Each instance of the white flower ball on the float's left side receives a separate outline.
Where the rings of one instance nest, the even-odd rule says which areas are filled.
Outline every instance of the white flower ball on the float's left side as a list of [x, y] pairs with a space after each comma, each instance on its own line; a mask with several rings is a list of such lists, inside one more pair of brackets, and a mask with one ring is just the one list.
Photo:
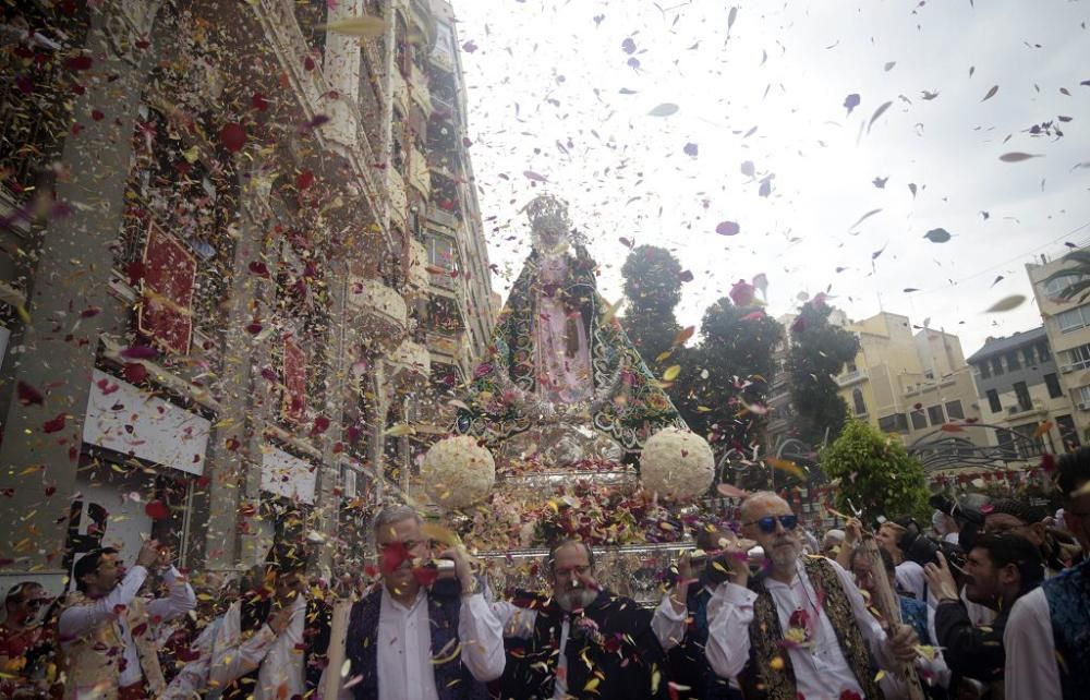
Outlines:
[[447, 510], [483, 500], [496, 483], [496, 461], [469, 435], [447, 437], [432, 445], [420, 475], [432, 502]]

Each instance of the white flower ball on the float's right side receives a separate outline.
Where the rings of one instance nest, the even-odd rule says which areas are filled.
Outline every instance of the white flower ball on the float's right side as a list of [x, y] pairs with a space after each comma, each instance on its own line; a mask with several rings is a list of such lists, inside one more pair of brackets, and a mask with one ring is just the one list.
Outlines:
[[700, 435], [665, 427], [647, 439], [640, 456], [640, 481], [659, 498], [691, 498], [715, 476], [715, 455]]

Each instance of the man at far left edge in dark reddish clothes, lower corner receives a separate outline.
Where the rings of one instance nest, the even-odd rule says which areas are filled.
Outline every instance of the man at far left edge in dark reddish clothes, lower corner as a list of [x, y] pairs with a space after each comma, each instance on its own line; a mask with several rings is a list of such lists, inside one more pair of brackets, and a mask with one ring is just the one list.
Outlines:
[[0, 625], [0, 698], [39, 698], [48, 693], [47, 666], [53, 655], [52, 629], [43, 613], [53, 599], [36, 581], [13, 586], [4, 596]]

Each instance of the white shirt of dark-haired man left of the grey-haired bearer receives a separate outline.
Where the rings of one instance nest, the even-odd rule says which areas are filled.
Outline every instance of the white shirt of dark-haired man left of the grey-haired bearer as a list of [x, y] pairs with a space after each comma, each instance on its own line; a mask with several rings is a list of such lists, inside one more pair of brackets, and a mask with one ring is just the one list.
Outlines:
[[[222, 690], [259, 667], [253, 700], [302, 696], [306, 692], [306, 675], [300, 648], [305, 627], [306, 599], [300, 595], [292, 605], [291, 619], [280, 635], [266, 624], [244, 640], [242, 603], [234, 603], [219, 628], [208, 673], [209, 686]], [[287, 695], [280, 695], [281, 687]]]

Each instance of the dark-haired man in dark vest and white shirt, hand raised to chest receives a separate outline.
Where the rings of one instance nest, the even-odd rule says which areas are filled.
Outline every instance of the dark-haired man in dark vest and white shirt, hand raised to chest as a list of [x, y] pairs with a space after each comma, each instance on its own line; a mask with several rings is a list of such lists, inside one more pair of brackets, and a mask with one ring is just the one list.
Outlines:
[[278, 543], [265, 580], [253, 581], [223, 615], [208, 686], [225, 700], [274, 700], [317, 690], [329, 645], [331, 610], [308, 600], [306, 550]]

